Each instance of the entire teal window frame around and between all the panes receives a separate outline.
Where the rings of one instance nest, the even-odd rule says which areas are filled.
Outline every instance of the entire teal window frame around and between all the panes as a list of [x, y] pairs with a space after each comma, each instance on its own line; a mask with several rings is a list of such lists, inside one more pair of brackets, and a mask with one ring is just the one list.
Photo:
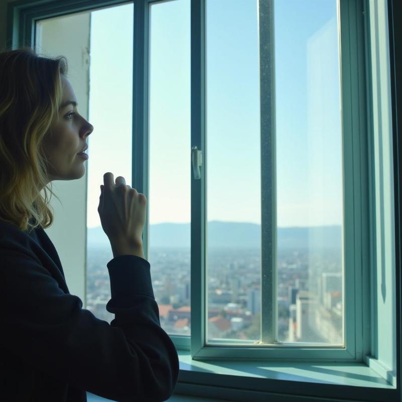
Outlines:
[[[244, 346], [206, 346], [205, 334], [205, 315], [206, 300], [205, 293], [205, 217], [206, 217], [206, 166], [208, 155], [205, 154], [206, 149], [206, 133], [205, 133], [205, 0], [191, 1], [191, 147], [196, 146], [198, 150], [203, 152], [203, 163], [200, 166], [200, 179], [194, 179], [192, 165], [189, 166], [191, 174], [191, 337], [171, 336], [179, 355], [191, 358], [194, 361], [206, 361], [216, 363], [221, 360], [232, 361], [237, 364], [244, 364], [246, 367], [250, 362], [256, 362], [258, 365], [269, 363], [272, 361], [289, 362], [295, 367], [299, 364], [312, 362], [336, 362], [341, 364], [363, 362], [364, 357], [369, 353], [373, 335], [363, 331], [363, 328], [369, 328], [371, 325], [372, 309], [370, 303], [363, 302], [370, 298], [370, 275], [372, 273], [372, 256], [370, 256], [373, 244], [372, 226], [373, 217], [371, 212], [371, 204], [373, 203], [373, 189], [371, 184], [371, 168], [368, 158], [370, 149], [370, 138], [363, 133], [367, 133], [370, 125], [370, 116], [368, 112], [368, 88], [370, 83], [368, 80], [369, 62], [366, 50], [368, 49], [368, 33], [367, 33], [367, 9], [368, 1], [366, 0], [339, 0], [339, 23], [341, 35], [341, 71], [342, 71], [342, 110], [343, 110], [343, 155], [344, 155], [344, 261], [345, 261], [345, 288], [344, 288], [344, 305], [345, 309], [345, 348], [307, 348], [295, 345], [294, 347], [273, 347], [261, 346], [250, 347], [249, 342], [243, 342]], [[13, 48], [21, 45], [34, 44], [35, 40], [35, 22], [44, 18], [51, 18], [72, 14], [82, 11], [93, 11], [103, 7], [134, 3], [134, 71], [133, 71], [133, 149], [132, 155], [136, 164], [133, 165], [132, 177], [136, 183], [136, 188], [144, 194], [148, 194], [148, 9], [152, 3], [158, 3], [160, 0], [134, 0], [132, 2], [119, 0], [23, 0], [10, 3], [8, 5], [8, 31], [7, 37], [12, 43]], [[267, 5], [268, 3], [265, 3]], [[388, 0], [389, 9], [392, 1]], [[260, 0], [260, 7], [264, 7], [264, 3]], [[266, 9], [269, 16], [269, 9]], [[390, 15], [390, 21], [392, 16]], [[392, 29], [394, 29], [392, 24]], [[265, 25], [266, 27], [266, 25]], [[264, 27], [260, 27], [264, 29]], [[261, 31], [262, 32], [262, 31]], [[260, 32], [260, 33], [261, 33]], [[269, 35], [266, 35], [268, 38]], [[395, 39], [396, 41], [396, 39]], [[267, 42], [266, 45], [270, 45]], [[268, 60], [269, 61], [269, 60]], [[272, 72], [271, 69], [268, 72]], [[395, 72], [396, 74], [396, 72]], [[400, 74], [399, 74], [400, 75]], [[399, 80], [400, 83], [400, 80]], [[268, 93], [272, 88], [272, 80], [270, 82], [261, 83], [261, 93]], [[270, 86], [271, 85], [271, 86]], [[400, 92], [399, 92], [400, 93]], [[400, 95], [399, 95], [400, 96]], [[396, 99], [396, 96], [395, 96]], [[261, 99], [263, 100], [263, 99]], [[396, 100], [395, 100], [396, 102]], [[400, 102], [399, 102], [400, 104]], [[265, 109], [264, 109], [265, 108]], [[272, 111], [272, 102], [267, 104], [261, 103], [261, 111], [265, 111], [265, 116], [269, 116]], [[394, 115], [397, 114], [394, 106]], [[400, 112], [399, 112], [400, 115]], [[263, 122], [263, 120], [261, 120]], [[400, 122], [400, 120], [399, 120]], [[400, 123], [399, 123], [400, 124]], [[269, 133], [269, 127], [273, 127], [273, 119], [265, 121], [264, 129]], [[396, 127], [396, 123], [394, 122]], [[396, 128], [393, 130], [394, 139], [394, 164], [395, 165], [395, 244], [396, 244], [396, 303], [397, 303], [397, 372], [395, 389], [370, 389], [370, 395], [366, 400], [383, 400], [396, 401], [400, 400], [401, 389], [401, 350], [400, 350], [400, 211], [397, 207], [400, 202], [400, 162], [398, 158], [398, 149], [400, 155], [400, 140], [397, 142]], [[263, 126], [261, 126], [263, 129]], [[272, 132], [272, 131], [271, 131]], [[399, 131], [400, 132], [400, 131]], [[266, 138], [266, 137], [265, 137]], [[271, 143], [262, 142], [265, 151], [272, 155], [274, 148], [274, 138], [270, 137]], [[189, 150], [190, 151], [190, 150]], [[263, 150], [261, 151], [263, 152]], [[271, 161], [274, 161], [274, 155]], [[271, 179], [274, 177], [274, 163], [271, 162], [270, 174]], [[399, 163], [399, 164], [398, 164]], [[269, 166], [267, 166], [269, 168]], [[399, 169], [399, 170], [398, 170]], [[268, 169], [269, 171], [269, 169]], [[265, 240], [271, 240], [275, 244], [275, 233], [270, 231], [269, 222], [274, 222], [274, 191], [266, 192], [266, 202], [264, 205], [266, 211], [270, 211], [263, 219], [262, 226], [266, 225], [267, 237]], [[147, 219], [148, 221], [148, 219]], [[148, 255], [148, 227], [144, 228], [144, 252]], [[348, 246], [353, 245], [353, 247]], [[263, 266], [269, 266], [269, 261], [275, 258], [274, 250], [263, 255]], [[365, 267], [370, 267], [366, 269]], [[275, 279], [275, 270], [267, 271], [269, 278], [265, 289], [271, 289], [265, 294], [271, 294], [270, 300], [265, 299], [264, 306], [270, 306], [269, 311], [271, 318], [263, 321], [263, 333], [266, 335], [263, 339], [272, 340], [272, 328], [274, 328], [274, 320], [272, 319], [275, 312], [276, 299], [274, 297], [274, 289], [272, 283]], [[264, 293], [264, 292], [262, 292]], [[375, 302], [374, 302], [375, 305]], [[269, 315], [267, 314], [267, 317]], [[265, 329], [264, 329], [265, 328]], [[271, 331], [271, 333], [269, 333]], [[230, 341], [228, 344], [232, 343]], [[236, 343], [240, 343], [237, 342]], [[267, 342], [269, 343], [269, 342]], [[184, 359], [184, 358], [183, 358]], [[180, 360], [181, 361], [181, 360]], [[216, 363], [217, 367], [219, 366]], [[363, 363], [362, 363], [363, 365]], [[184, 367], [184, 365], [183, 365]], [[313, 366], [309, 366], [313, 370]], [[316, 367], [318, 367], [316, 365]], [[204, 370], [205, 371], [205, 370]], [[225, 373], [223, 366], [221, 371], [203, 373], [194, 367], [188, 369], [180, 366], [179, 386], [183, 393], [188, 394], [204, 394], [215, 397], [225, 397], [231, 394], [231, 387], [236, 382], [236, 377], [226, 374], [224, 376], [216, 374]], [[205, 374], [205, 375], [204, 375]], [[202, 379], [200, 379], [202, 377]], [[225, 378], [224, 378], [225, 377]], [[328, 398], [342, 397], [345, 387], [350, 400], [359, 399], [359, 393], [364, 387], [348, 387], [347, 385], [328, 385], [315, 384], [312, 391], [311, 384], [304, 384], [303, 380], [297, 380], [294, 376], [290, 381], [297, 387], [296, 391], [286, 389], [289, 381], [283, 381], [280, 376], [275, 377], [275, 381], [265, 382], [262, 385], [262, 378], [249, 378], [244, 381], [241, 389], [244, 390], [244, 398], [255, 396], [254, 400], [259, 400], [258, 392], [261, 397], [266, 397], [272, 393], [278, 395], [285, 392], [283, 400], [299, 400], [296, 395], [315, 395], [327, 396]], [[258, 377], [258, 376], [256, 376]], [[288, 380], [288, 379], [287, 379]], [[233, 382], [231, 382], [233, 381]], [[301, 382], [300, 382], [301, 381]], [[313, 381], [314, 382], [314, 381]], [[286, 384], [285, 384], [286, 383]], [[309, 388], [310, 386], [310, 388]], [[197, 388], [198, 387], [198, 388]], [[200, 391], [199, 387], [203, 388]], [[212, 388], [213, 387], [213, 388]], [[217, 389], [221, 387], [222, 393]], [[342, 389], [341, 389], [342, 388]], [[355, 391], [352, 390], [355, 389]], [[197, 390], [198, 389], [198, 390]], [[226, 390], [225, 390], [226, 389]], [[237, 390], [232, 392], [233, 400], [239, 399], [239, 386]], [[366, 388], [364, 388], [366, 389]], [[257, 390], [259, 390], [257, 392]], [[218, 392], [218, 393], [217, 393]], [[254, 392], [254, 393], [253, 393]], [[256, 393], [257, 392], [257, 393]], [[293, 394], [293, 395], [291, 395]], [[237, 396], [236, 396], [237, 395]], [[263, 400], [263, 399], [261, 399]], [[330, 399], [328, 399], [330, 400]]]

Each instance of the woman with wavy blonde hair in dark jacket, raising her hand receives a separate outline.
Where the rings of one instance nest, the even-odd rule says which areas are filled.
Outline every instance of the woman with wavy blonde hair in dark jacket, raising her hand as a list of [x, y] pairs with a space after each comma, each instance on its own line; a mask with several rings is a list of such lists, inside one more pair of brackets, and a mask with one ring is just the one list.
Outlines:
[[78, 153], [93, 131], [66, 74], [62, 56], [0, 53], [0, 400], [80, 402], [86, 391], [166, 400], [179, 365], [144, 259], [146, 197], [105, 173], [98, 213], [114, 257], [107, 264], [110, 325], [69, 293], [43, 230], [53, 222], [48, 183], [83, 176]]

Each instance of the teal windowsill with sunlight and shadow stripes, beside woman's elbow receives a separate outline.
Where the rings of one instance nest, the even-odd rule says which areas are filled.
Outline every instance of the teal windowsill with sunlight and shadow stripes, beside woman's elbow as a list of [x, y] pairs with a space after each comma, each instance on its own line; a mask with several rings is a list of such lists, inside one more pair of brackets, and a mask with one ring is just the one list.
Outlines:
[[[176, 391], [179, 394], [191, 389], [193, 395], [208, 396], [203, 387], [215, 387], [222, 389], [223, 393], [214, 392], [210, 396], [222, 397], [225, 389], [232, 389], [250, 392], [250, 395], [252, 392], [275, 392], [331, 400], [345, 395], [345, 392], [351, 399], [357, 399], [364, 390], [369, 395], [367, 400], [395, 400], [396, 387], [365, 363], [197, 361], [191, 359], [188, 350], [177, 350], [177, 353], [180, 373]], [[368, 387], [371, 390], [367, 393]]]

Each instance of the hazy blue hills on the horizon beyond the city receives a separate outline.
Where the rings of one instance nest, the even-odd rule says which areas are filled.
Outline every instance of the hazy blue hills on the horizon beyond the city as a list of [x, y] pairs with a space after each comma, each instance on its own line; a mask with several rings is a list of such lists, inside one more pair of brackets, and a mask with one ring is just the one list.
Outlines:
[[[150, 225], [150, 247], [190, 247], [190, 224]], [[260, 225], [236, 222], [208, 222], [208, 247], [261, 246]], [[341, 248], [341, 226], [278, 228], [278, 248]], [[88, 229], [88, 246], [109, 246], [101, 226]]]

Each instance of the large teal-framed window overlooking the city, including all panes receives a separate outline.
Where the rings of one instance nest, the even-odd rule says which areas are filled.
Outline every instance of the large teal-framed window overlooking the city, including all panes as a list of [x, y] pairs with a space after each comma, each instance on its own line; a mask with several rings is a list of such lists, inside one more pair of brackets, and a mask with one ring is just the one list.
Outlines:
[[341, 397], [346, 387], [357, 399], [360, 386], [370, 388], [367, 400], [397, 400], [386, 3], [10, 10], [19, 16], [9, 22], [16, 46], [32, 41], [67, 56], [95, 128], [86, 181], [74, 183], [82, 197], [69, 198], [72, 183], [55, 185], [67, 211], [87, 194], [87, 245], [61, 256], [66, 267], [82, 260], [66, 277], [85, 308], [113, 319], [105, 310], [112, 253], [96, 213], [99, 180], [112, 171], [148, 198], [144, 249], [161, 325], [180, 354], [178, 391], [293, 400], [283, 384], [262, 381], [272, 378], [297, 382], [299, 395]]

